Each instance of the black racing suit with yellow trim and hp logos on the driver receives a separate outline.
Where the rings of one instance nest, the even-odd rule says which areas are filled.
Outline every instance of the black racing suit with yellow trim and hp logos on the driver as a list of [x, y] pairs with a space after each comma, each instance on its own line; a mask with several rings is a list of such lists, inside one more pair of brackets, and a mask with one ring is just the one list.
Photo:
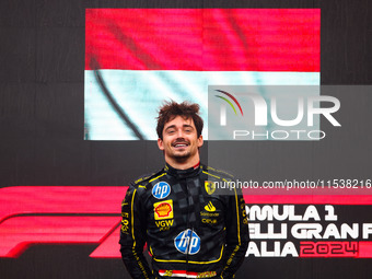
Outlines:
[[131, 277], [233, 278], [249, 236], [242, 195], [216, 190], [216, 182], [231, 179], [205, 165], [182, 171], [166, 164], [132, 183], [121, 205], [119, 241]]

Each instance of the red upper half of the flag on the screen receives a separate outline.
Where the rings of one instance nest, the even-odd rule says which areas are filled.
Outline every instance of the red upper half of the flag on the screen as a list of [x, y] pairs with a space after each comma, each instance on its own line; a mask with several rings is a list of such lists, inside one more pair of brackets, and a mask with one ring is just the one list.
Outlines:
[[319, 71], [319, 9], [88, 9], [85, 15], [86, 70]]

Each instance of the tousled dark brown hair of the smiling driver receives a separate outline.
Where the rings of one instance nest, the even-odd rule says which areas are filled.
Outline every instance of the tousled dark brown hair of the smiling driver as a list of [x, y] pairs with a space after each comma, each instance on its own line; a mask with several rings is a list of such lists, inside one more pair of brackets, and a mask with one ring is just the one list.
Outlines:
[[163, 129], [166, 123], [173, 120], [176, 116], [183, 116], [185, 119], [191, 118], [195, 124], [198, 138], [201, 135], [204, 121], [199, 116], [200, 106], [187, 101], [178, 104], [174, 101], [164, 102], [159, 108], [156, 132], [158, 137], [163, 140]]

